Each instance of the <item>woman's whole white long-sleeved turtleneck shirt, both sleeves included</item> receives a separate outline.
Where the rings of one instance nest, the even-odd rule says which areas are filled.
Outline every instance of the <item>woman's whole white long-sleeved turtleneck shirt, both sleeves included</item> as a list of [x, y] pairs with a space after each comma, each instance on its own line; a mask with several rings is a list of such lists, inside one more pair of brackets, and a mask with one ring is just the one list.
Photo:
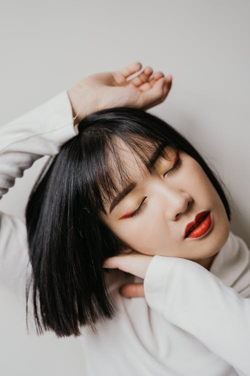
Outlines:
[[[0, 126], [0, 197], [23, 170], [55, 155], [77, 134], [66, 91]], [[0, 212], [0, 283], [25, 301], [25, 224]], [[105, 276], [118, 313], [82, 327], [88, 376], [250, 375], [250, 251], [230, 232], [208, 270], [154, 256], [144, 281], [118, 270]], [[144, 283], [144, 297], [122, 297], [124, 283]]]

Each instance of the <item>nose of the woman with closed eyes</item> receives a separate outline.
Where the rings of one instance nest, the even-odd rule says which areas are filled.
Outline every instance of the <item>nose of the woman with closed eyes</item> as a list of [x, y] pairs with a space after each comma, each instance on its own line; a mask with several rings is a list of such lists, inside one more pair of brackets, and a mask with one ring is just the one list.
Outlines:
[[176, 221], [181, 214], [186, 213], [193, 202], [191, 195], [187, 192], [168, 188], [164, 194], [165, 217], [170, 221]]

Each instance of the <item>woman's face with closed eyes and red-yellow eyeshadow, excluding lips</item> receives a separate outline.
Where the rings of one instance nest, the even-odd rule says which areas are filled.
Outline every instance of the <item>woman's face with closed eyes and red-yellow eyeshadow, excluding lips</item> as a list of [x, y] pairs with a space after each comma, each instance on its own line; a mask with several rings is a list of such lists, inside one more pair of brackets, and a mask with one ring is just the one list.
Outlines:
[[[222, 201], [202, 167], [185, 152], [167, 147], [170, 159], [160, 157], [150, 174], [122, 141], [118, 150], [136, 186], [116, 201], [110, 213], [111, 206], [105, 208], [108, 215], [101, 215], [103, 222], [137, 252], [181, 257], [206, 267], [230, 228]], [[207, 233], [184, 238], [186, 225], [205, 211], [212, 219]]]

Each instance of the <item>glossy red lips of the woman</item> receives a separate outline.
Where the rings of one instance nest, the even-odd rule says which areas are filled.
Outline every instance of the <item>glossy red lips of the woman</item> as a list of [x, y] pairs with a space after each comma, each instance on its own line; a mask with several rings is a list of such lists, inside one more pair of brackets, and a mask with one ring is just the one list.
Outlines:
[[211, 222], [210, 212], [197, 214], [195, 220], [186, 225], [184, 238], [199, 238], [209, 230]]

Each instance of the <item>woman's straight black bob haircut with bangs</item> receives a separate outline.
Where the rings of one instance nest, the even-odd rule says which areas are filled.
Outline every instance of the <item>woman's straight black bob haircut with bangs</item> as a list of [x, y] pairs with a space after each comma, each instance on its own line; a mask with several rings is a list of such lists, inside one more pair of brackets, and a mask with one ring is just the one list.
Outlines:
[[[32, 308], [37, 334], [52, 330], [58, 337], [80, 335], [80, 326], [93, 332], [100, 319], [116, 311], [102, 267], [107, 257], [127, 247], [100, 220], [105, 204], [117, 192], [107, 156], [119, 182], [129, 180], [115, 140], [121, 139], [150, 171], [152, 155], [167, 158], [166, 147], [194, 158], [215, 187], [230, 221], [230, 208], [218, 178], [198, 151], [165, 121], [143, 110], [113, 108], [85, 117], [79, 133], [64, 143], [45, 165], [26, 206]], [[117, 176], [116, 176], [117, 178]], [[222, 183], [223, 184], [223, 183]]]

